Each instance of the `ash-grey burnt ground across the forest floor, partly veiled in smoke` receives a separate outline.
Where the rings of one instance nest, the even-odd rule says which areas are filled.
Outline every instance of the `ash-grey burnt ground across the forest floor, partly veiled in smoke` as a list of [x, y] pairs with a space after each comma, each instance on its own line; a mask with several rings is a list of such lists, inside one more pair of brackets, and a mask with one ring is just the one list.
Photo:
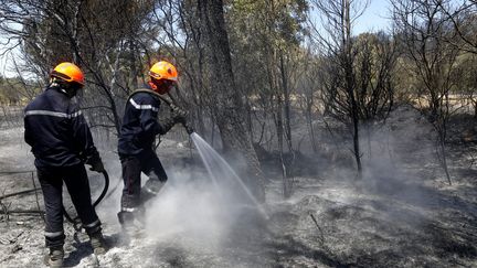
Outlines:
[[[451, 122], [447, 144], [452, 185], [434, 151], [433, 130], [401, 107], [362, 141], [365, 171], [356, 179], [349, 144], [316, 122], [317, 153], [288, 159], [293, 192], [283, 199], [277, 153], [261, 154], [266, 175], [266, 216], [251, 206], [218, 201], [187, 141], [165, 139], [160, 158], [170, 173], [161, 196], [149, 204], [148, 227], [121, 236], [115, 214], [118, 191], [98, 214], [113, 248], [95, 258], [84, 234], [65, 224], [68, 267], [477, 267], [477, 124]], [[328, 127], [330, 124], [328, 122]], [[339, 129], [338, 125], [331, 128]], [[338, 130], [337, 130], [338, 132]], [[306, 140], [306, 127], [296, 127]], [[99, 143], [100, 139], [96, 141]], [[112, 187], [119, 161], [102, 148]], [[0, 169], [33, 170], [21, 126], [0, 129]], [[91, 174], [95, 192], [102, 178]], [[33, 187], [31, 173], [1, 174], [0, 194]], [[33, 193], [2, 199], [0, 267], [41, 267], [43, 221], [18, 210], [42, 208]], [[74, 239], [75, 237], [75, 239]]]

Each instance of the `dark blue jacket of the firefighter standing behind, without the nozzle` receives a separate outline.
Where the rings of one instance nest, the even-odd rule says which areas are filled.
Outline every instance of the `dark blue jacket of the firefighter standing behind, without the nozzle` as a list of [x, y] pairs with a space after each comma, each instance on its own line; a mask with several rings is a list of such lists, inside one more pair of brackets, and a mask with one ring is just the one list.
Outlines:
[[49, 87], [24, 109], [24, 139], [38, 168], [71, 167], [99, 158], [76, 99]]

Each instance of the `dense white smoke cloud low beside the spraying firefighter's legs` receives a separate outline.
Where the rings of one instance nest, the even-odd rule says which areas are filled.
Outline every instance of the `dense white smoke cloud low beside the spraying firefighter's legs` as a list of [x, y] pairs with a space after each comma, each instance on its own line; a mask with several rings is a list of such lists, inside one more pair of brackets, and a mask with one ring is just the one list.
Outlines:
[[169, 172], [168, 183], [147, 207], [148, 236], [220, 243], [232, 221], [227, 206], [204, 174]]

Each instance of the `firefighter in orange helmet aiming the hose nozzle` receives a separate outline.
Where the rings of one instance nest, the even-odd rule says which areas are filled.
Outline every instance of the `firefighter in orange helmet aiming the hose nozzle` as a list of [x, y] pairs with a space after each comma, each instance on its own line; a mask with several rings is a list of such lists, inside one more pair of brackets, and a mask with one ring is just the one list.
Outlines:
[[[134, 228], [135, 219], [144, 219], [144, 203], [156, 196], [168, 180], [152, 144], [157, 135], [183, 124], [186, 112], [174, 107], [170, 118], [158, 120], [161, 99], [157, 94], [169, 93], [177, 81], [178, 72], [171, 63], [157, 62], [149, 71], [148, 86], [136, 90], [126, 103], [118, 140], [124, 180], [118, 219], [126, 231]], [[141, 172], [149, 178], [142, 187]]]

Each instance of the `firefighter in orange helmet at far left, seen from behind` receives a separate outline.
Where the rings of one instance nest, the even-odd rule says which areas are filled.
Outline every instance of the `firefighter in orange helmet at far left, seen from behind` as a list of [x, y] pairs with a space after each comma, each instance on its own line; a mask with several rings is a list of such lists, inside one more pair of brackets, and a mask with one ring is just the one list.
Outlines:
[[64, 257], [63, 182], [70, 192], [95, 254], [106, 250], [99, 218], [91, 202], [84, 164], [104, 172], [85, 118], [75, 96], [84, 74], [73, 63], [61, 63], [51, 73], [49, 87], [24, 109], [24, 139], [32, 147], [46, 212], [45, 264], [61, 267]]

